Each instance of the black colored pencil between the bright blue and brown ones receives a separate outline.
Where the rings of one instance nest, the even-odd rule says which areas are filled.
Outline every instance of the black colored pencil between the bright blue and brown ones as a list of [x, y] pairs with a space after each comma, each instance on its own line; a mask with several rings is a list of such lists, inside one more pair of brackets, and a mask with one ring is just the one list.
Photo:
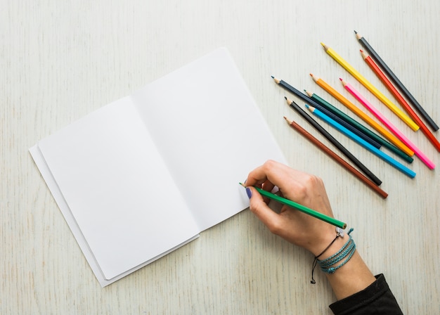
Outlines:
[[373, 172], [370, 171], [365, 165], [362, 164], [361, 161], [359, 161], [347, 148], [342, 146], [339, 141], [337, 141], [327, 130], [325, 130], [323, 127], [321, 127], [321, 124], [318, 124], [316, 120], [313, 120], [312, 117], [310, 117], [309, 114], [307, 114], [302, 108], [299, 107], [297, 103], [290, 100], [289, 98], [285, 97], [285, 100], [287, 101], [287, 104], [290, 105], [291, 108], [293, 108], [299, 115], [301, 115], [309, 124], [311, 124], [316, 130], [318, 130], [323, 136], [325, 136], [328, 141], [330, 141], [339, 151], [341, 151], [351, 162], [354, 163], [361, 171], [368, 176], [369, 179], [371, 179], [377, 186], [380, 186], [382, 184], [382, 181], [373, 174]]

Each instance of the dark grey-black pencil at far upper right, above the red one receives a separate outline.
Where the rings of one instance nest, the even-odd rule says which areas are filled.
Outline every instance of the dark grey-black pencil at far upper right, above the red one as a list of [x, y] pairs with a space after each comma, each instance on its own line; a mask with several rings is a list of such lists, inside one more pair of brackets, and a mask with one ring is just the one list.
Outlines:
[[410, 103], [413, 104], [415, 110], [417, 110], [418, 113], [423, 118], [425, 118], [427, 124], [429, 124], [429, 126], [432, 129], [434, 129], [434, 131], [439, 130], [439, 126], [437, 126], [437, 124], [434, 122], [434, 120], [432, 120], [432, 118], [429, 117], [429, 115], [426, 113], [426, 111], [422, 108], [422, 105], [420, 105], [418, 103], [418, 101], [414, 98], [414, 96], [412, 94], [410, 94], [410, 91], [408, 91], [408, 89], [406, 89], [406, 87], [399, 80], [399, 78], [396, 75], [394, 75], [392, 70], [389, 69], [389, 67], [387, 66], [386, 63], [384, 63], [384, 60], [382, 60], [382, 58], [380, 58], [379, 54], [376, 53], [376, 51], [373, 49], [373, 47], [370, 46], [370, 44], [368, 44], [368, 41], [366, 41], [365, 38], [363, 38], [363, 36], [361, 34], [359, 34], [358, 32], [354, 31], [354, 33], [356, 34], [356, 38], [361, 43], [363, 48], [366, 51], [368, 51], [368, 53], [370, 54], [371, 58], [373, 58], [376, 61], [376, 63], [378, 63], [380, 65], [382, 70], [389, 76], [389, 78], [392, 80], [392, 82], [394, 82], [394, 84], [396, 84], [396, 86], [399, 87], [401, 92], [406, 96], [406, 98], [408, 98]]

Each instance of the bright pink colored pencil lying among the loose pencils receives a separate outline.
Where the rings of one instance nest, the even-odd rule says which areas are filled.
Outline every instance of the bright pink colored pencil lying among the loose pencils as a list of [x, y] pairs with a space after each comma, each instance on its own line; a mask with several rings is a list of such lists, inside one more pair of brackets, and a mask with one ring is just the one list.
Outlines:
[[406, 138], [406, 136], [402, 134], [401, 131], [397, 129], [396, 126], [394, 126], [394, 124], [392, 124], [392, 122], [390, 122], [387, 119], [387, 117], [382, 115], [382, 113], [380, 113], [380, 111], [377, 110], [377, 108], [375, 108], [369, 101], [367, 101], [365, 97], [363, 97], [358, 91], [356, 91], [356, 89], [354, 89], [354, 87], [351, 86], [351, 84], [348, 84], [341, 78], [339, 78], [339, 80], [341, 80], [342, 85], [347, 91], [350, 92], [351, 95], [353, 95], [359, 102], [361, 102], [362, 105], [365, 106], [365, 108], [370, 110], [370, 112], [373, 115], [375, 115], [375, 117], [378, 120], [380, 120], [380, 122], [382, 122], [382, 124], [384, 124], [390, 131], [392, 131], [392, 133], [395, 134], [397, 138], [399, 138], [403, 143], [405, 143], [406, 146], [408, 146], [408, 148], [413, 150], [414, 154], [418, 158], [420, 158], [420, 160], [422, 160], [422, 162], [424, 162], [425, 165], [429, 167], [429, 169], [434, 169], [435, 167], [434, 163], [431, 160], [429, 160], [429, 158], [427, 158], [427, 156], [423, 154], [422, 151], [419, 148], [417, 148], [414, 143], [412, 143], [408, 138]]

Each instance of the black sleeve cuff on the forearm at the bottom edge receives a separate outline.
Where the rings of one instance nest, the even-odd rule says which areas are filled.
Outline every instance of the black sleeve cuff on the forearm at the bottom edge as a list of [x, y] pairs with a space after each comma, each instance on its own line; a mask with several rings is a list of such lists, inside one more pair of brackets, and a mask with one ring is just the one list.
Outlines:
[[403, 314], [383, 274], [361, 292], [330, 304], [335, 315]]

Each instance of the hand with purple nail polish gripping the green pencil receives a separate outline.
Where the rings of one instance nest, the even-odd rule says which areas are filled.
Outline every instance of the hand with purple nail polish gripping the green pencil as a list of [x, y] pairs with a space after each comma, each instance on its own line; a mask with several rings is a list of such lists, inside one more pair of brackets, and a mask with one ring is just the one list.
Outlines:
[[268, 160], [250, 172], [245, 185], [250, 195], [250, 210], [272, 233], [306, 248], [315, 256], [335, 238], [335, 226], [286, 205], [283, 205], [278, 214], [268, 207], [268, 200], [264, 200], [252, 187], [272, 191], [277, 186], [284, 198], [333, 217], [325, 186], [318, 176]]

